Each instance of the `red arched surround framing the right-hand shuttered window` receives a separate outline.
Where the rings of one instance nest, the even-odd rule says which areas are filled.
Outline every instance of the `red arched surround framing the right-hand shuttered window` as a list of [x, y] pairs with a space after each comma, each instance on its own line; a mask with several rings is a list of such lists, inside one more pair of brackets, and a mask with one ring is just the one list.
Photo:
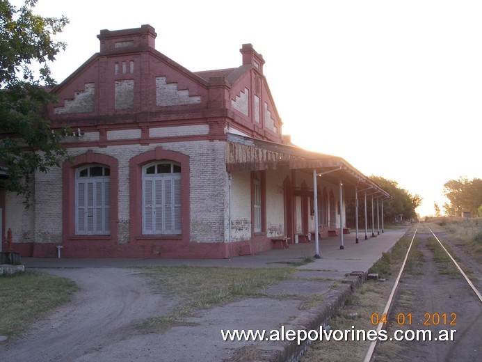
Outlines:
[[[142, 167], [145, 164], [154, 161], [169, 160], [178, 162], [181, 164], [181, 192], [182, 192], [182, 237], [179, 240], [179, 235], [173, 235], [168, 237], [166, 235], [159, 235], [155, 237], [152, 235], [143, 235], [142, 230], [142, 209], [143, 209], [143, 186], [142, 186]], [[165, 244], [170, 240], [175, 240], [176, 246], [179, 246], [179, 242], [187, 244], [190, 239], [190, 197], [189, 197], [189, 185], [190, 185], [190, 167], [189, 156], [179, 152], [170, 150], [163, 150], [161, 147], [157, 147], [154, 150], [147, 151], [132, 157], [129, 161], [130, 180], [129, 180], [129, 200], [130, 200], [130, 241], [141, 242], [146, 237], [148, 239], [155, 239], [158, 243]], [[172, 249], [177, 250], [176, 246], [172, 246]]]

